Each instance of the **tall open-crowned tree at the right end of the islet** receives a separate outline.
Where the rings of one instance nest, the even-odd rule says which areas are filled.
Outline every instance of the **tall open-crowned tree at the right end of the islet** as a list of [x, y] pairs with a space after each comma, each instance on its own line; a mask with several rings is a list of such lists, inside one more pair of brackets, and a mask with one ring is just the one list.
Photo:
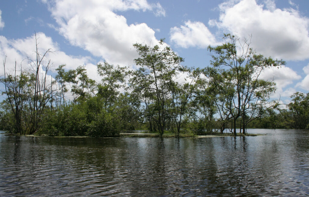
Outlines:
[[260, 74], [267, 67], [279, 67], [285, 62], [256, 55], [250, 48], [251, 38], [241, 41], [237, 35], [225, 34], [223, 39], [227, 42], [217, 47], [209, 46], [208, 50], [213, 53], [210, 64], [214, 68], [225, 69], [226, 85], [234, 89], [228, 98], [231, 105], [227, 109], [236, 135], [238, 118], [242, 119], [239, 126], [244, 133], [248, 122], [265, 112], [264, 106], [276, 105], [268, 100], [269, 94], [275, 91], [275, 84], [260, 79]]

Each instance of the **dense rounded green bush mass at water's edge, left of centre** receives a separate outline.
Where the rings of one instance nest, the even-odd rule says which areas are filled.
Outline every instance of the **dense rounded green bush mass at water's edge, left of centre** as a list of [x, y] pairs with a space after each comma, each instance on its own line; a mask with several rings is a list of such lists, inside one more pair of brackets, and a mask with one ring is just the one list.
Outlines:
[[40, 135], [110, 137], [119, 135], [122, 125], [117, 113], [106, 112], [103, 103], [92, 97], [79, 105], [46, 111]]

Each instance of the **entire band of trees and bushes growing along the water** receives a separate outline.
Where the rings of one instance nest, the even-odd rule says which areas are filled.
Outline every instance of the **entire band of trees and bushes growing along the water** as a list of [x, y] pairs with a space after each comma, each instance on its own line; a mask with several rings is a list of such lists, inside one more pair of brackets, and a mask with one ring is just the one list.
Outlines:
[[[59, 65], [54, 78], [47, 75], [51, 61], [46, 54], [52, 51], [40, 53], [36, 44], [36, 60], [28, 59], [28, 68], [15, 63], [8, 71], [3, 62], [0, 129], [91, 137], [243, 136], [248, 127], [308, 129], [309, 94], [293, 94], [292, 103], [281, 109], [269, 99], [276, 84], [260, 78], [266, 68], [285, 62], [257, 55], [250, 40], [230, 34], [223, 39], [222, 45], [208, 47], [212, 61], [206, 68], [181, 65], [184, 59], [163, 39], [153, 47], [136, 43], [138, 69], [97, 64], [100, 82], [89, 78], [84, 66], [65, 70]], [[154, 134], [120, 134], [133, 129]]]

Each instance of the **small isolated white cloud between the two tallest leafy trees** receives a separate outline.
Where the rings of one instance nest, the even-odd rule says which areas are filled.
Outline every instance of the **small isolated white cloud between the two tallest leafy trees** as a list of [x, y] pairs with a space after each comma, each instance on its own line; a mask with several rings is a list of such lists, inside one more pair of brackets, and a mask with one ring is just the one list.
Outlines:
[[201, 22], [191, 22], [190, 20], [184, 23], [185, 26], [172, 27], [170, 29], [171, 41], [177, 46], [199, 47], [206, 48], [209, 45], [217, 45], [214, 35]]

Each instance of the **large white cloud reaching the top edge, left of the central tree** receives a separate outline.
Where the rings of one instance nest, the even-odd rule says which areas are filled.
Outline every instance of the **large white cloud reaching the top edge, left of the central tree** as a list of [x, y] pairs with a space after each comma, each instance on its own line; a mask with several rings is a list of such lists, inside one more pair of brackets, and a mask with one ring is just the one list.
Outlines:
[[58, 31], [74, 46], [104, 58], [110, 64], [133, 63], [137, 53], [133, 44], [157, 43], [155, 31], [145, 23], [127, 24], [116, 11], [153, 11], [164, 16], [162, 6], [146, 0], [54, 0], [49, 10], [59, 25]]

